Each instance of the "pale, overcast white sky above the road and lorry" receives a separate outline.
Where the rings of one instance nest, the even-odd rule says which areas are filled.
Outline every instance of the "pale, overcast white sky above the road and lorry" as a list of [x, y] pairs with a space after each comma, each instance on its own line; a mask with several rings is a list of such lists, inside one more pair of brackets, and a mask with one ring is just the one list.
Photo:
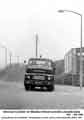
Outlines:
[[[4, 51], [2, 46], [5, 46], [8, 57], [12, 53], [13, 61], [17, 61], [17, 56], [20, 61], [35, 57], [35, 35], [38, 34], [38, 56], [64, 59], [71, 48], [80, 47], [80, 16], [70, 12], [58, 13], [59, 9], [73, 10], [83, 15], [84, 2], [0, 0], [0, 49]], [[3, 56], [1, 59], [5, 60]]]

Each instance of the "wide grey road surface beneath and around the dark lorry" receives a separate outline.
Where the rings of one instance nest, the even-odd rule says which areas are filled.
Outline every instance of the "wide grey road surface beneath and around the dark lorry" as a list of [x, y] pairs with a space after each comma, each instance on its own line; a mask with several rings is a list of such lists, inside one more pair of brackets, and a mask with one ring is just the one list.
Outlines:
[[0, 81], [0, 109], [84, 108], [84, 88], [55, 85], [53, 92], [25, 91], [21, 82]]

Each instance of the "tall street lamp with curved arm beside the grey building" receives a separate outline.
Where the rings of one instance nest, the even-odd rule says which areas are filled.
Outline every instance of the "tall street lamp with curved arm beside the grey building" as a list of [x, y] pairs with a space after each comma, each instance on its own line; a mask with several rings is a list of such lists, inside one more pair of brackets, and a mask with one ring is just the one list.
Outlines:
[[60, 13], [64, 12], [71, 12], [76, 15], [79, 15], [81, 18], [81, 25], [80, 25], [80, 89], [82, 89], [82, 81], [83, 81], [83, 68], [82, 68], [82, 14], [72, 11], [72, 10], [58, 10]]

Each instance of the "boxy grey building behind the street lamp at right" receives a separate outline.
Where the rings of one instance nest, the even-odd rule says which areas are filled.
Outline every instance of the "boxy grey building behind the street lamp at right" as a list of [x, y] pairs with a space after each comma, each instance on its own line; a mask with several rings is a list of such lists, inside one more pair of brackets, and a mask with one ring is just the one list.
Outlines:
[[[84, 48], [82, 48], [82, 64], [84, 73]], [[64, 57], [65, 73], [79, 74], [80, 72], [80, 48], [72, 48]]]

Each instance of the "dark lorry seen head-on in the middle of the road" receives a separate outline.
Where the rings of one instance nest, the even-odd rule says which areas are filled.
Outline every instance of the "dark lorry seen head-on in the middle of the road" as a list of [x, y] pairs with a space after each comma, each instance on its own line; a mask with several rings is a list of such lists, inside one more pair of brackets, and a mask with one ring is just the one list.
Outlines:
[[50, 59], [30, 58], [26, 64], [24, 87], [30, 90], [35, 87], [54, 90], [55, 65]]

